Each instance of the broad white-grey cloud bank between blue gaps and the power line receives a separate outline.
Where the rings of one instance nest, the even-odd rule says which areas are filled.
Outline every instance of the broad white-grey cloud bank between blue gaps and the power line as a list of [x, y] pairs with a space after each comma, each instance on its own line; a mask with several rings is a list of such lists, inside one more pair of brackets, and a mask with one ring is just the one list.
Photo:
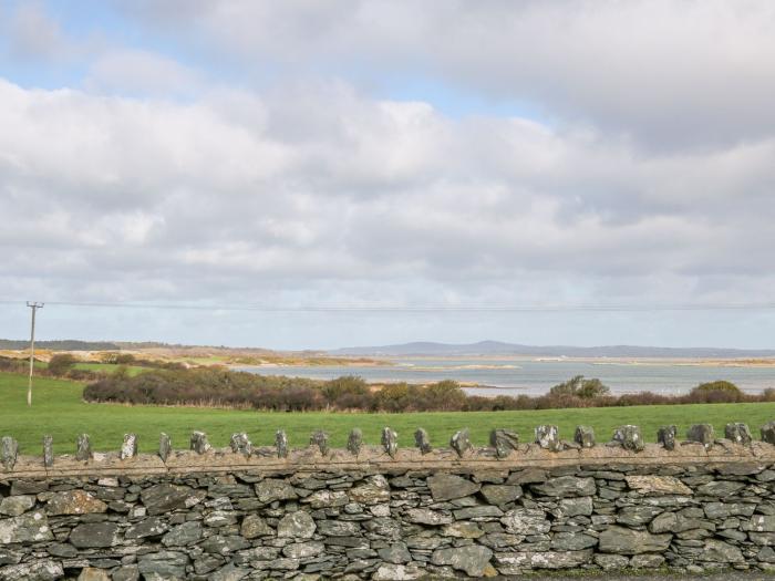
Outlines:
[[194, 103], [2, 82], [0, 123], [10, 295], [30, 284], [49, 300], [283, 304], [767, 294], [772, 138], [644, 156], [588, 128], [451, 120], [341, 82]]

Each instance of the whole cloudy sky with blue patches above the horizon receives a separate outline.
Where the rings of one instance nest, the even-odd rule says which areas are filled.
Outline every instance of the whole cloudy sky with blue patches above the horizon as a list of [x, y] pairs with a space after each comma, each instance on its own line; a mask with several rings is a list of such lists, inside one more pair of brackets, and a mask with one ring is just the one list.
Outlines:
[[40, 339], [775, 347], [773, 30], [769, 0], [0, 0], [0, 336], [38, 300]]

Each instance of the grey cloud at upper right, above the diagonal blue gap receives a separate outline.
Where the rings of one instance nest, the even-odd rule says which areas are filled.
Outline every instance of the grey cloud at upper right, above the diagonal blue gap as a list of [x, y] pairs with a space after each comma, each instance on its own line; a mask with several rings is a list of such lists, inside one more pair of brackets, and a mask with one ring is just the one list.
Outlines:
[[168, 18], [176, 3], [124, 6], [256, 74], [324, 71], [386, 90], [433, 79], [651, 149], [721, 147], [775, 129], [766, 0], [229, 0], [190, 4], [182, 20]]

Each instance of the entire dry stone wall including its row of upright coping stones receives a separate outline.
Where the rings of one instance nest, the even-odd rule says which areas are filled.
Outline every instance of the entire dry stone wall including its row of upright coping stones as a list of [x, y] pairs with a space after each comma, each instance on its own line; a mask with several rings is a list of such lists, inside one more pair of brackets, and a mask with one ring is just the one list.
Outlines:
[[[731, 425], [735, 426], [735, 425]], [[643, 444], [637, 428], [472, 446], [254, 447], [20, 456], [0, 469], [0, 580], [426, 579], [540, 570], [775, 569], [775, 446], [747, 427]], [[663, 434], [663, 436], [664, 436]], [[767, 435], [763, 433], [765, 438]], [[591, 439], [590, 439], [591, 438]], [[533, 439], [533, 438], [531, 438]]]

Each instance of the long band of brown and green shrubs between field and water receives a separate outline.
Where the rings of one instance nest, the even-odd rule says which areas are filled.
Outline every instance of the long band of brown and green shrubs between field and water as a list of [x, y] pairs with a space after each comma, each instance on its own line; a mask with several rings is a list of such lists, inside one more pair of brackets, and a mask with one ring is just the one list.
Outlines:
[[114, 373], [83, 392], [90, 402], [134, 405], [196, 405], [273, 412], [498, 412], [626, 407], [698, 403], [775, 402], [775, 390], [750, 395], [728, 382], [702, 384], [683, 395], [650, 392], [611, 395], [597, 378], [576, 376], [540, 396], [468, 394], [454, 381], [425, 385], [368, 384], [356, 376], [330, 381], [268, 376], [216, 367], [149, 370], [131, 376]]

